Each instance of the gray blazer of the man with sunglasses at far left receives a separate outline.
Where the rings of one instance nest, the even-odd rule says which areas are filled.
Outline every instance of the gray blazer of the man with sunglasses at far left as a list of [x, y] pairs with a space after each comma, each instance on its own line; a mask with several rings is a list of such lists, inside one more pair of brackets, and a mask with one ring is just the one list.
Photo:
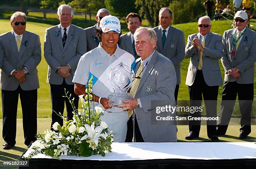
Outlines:
[[[39, 88], [38, 74], [36, 66], [41, 61], [41, 43], [37, 34], [25, 31], [21, 41], [20, 52], [18, 52], [17, 43], [13, 30], [0, 35], [0, 44], [3, 50], [3, 65], [1, 66], [0, 88], [7, 91], [15, 91], [18, 86], [24, 90], [34, 90]], [[19, 83], [11, 71], [28, 70], [25, 75], [25, 82]]]

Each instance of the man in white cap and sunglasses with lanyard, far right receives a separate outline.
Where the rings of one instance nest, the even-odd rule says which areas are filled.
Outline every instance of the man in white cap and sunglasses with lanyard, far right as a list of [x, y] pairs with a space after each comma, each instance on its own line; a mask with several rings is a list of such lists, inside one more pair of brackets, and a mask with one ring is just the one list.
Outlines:
[[226, 30], [223, 35], [221, 63], [225, 78], [217, 133], [225, 135], [238, 95], [241, 111], [239, 138], [245, 139], [251, 133], [256, 32], [246, 27], [248, 15], [242, 10], [237, 11], [234, 22], [236, 28]]

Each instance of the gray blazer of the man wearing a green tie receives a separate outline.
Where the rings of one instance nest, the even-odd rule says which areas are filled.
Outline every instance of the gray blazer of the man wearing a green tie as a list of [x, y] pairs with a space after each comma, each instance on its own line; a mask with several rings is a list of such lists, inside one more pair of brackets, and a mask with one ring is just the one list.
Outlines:
[[180, 63], [185, 55], [184, 33], [170, 25], [163, 49], [161, 25], [153, 29], [157, 35], [157, 51], [172, 61], [176, 71], [177, 84], [180, 84]]

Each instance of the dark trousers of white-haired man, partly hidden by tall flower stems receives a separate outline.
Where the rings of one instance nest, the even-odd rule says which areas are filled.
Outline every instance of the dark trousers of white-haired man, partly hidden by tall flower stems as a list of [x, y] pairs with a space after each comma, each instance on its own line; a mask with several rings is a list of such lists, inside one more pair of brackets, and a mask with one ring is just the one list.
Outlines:
[[61, 114], [61, 116], [63, 115], [64, 103], [66, 103], [66, 108], [67, 108], [67, 121], [72, 120], [73, 118], [72, 111], [74, 110], [72, 108], [71, 103], [69, 103], [69, 99], [67, 97], [62, 97], [62, 96], [66, 96], [65, 89], [66, 89], [66, 93], [69, 92], [67, 96], [71, 94], [70, 100], [74, 98], [74, 105], [76, 109], [78, 108], [79, 98], [74, 93], [74, 85], [68, 85], [65, 82], [65, 79], [63, 79], [63, 83], [61, 85], [50, 84], [50, 87], [51, 87], [51, 106], [52, 106], [51, 130], [53, 130], [52, 125], [55, 122], [58, 122], [61, 126], [63, 125], [63, 119], [60, 117], [59, 113]]

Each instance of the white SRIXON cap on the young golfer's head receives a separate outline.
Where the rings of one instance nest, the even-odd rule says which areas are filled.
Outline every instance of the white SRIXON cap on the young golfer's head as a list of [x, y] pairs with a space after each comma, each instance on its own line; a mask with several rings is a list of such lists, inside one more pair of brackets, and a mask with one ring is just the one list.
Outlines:
[[112, 15], [104, 16], [100, 20], [100, 28], [102, 32], [106, 33], [109, 31], [115, 31], [117, 33], [121, 33], [121, 25], [118, 18]]

